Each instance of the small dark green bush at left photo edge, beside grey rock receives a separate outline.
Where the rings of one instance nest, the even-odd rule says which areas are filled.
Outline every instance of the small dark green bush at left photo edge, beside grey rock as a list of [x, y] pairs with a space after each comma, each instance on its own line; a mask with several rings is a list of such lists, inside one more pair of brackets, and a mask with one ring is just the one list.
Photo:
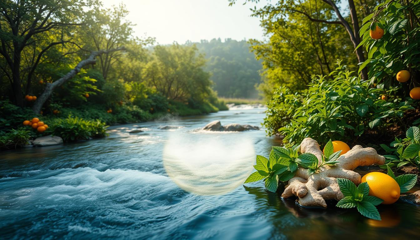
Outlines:
[[0, 149], [11, 149], [24, 146], [31, 137], [31, 131], [18, 128], [11, 129], [9, 132], [0, 132]]

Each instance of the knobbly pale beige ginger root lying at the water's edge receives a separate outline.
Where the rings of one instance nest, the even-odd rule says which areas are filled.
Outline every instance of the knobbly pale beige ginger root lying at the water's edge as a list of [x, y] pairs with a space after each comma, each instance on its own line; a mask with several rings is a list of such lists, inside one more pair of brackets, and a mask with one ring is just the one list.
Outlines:
[[[312, 153], [321, 163], [323, 152], [317, 141], [312, 138], [305, 138], [300, 145], [301, 153]], [[337, 178], [346, 178], [360, 184], [360, 175], [352, 171], [357, 166], [370, 166], [372, 164], [385, 164], [385, 158], [376, 153], [373, 148], [363, 148], [360, 145], [354, 146], [347, 153], [344, 153], [337, 160], [336, 166], [322, 166], [318, 172], [312, 175], [307, 174], [307, 169], [299, 167], [293, 178], [289, 180], [286, 189], [281, 195], [289, 198], [293, 195], [299, 198], [302, 206], [319, 206], [326, 208], [325, 200], [341, 200], [344, 195], [340, 191]]]

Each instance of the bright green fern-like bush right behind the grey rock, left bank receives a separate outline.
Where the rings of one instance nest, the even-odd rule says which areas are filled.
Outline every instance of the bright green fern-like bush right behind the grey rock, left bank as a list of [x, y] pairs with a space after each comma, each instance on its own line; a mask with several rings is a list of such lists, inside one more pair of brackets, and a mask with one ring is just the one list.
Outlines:
[[106, 136], [106, 124], [100, 120], [89, 121], [68, 116], [66, 119], [54, 119], [47, 131], [63, 138], [64, 142], [87, 140], [90, 137]]

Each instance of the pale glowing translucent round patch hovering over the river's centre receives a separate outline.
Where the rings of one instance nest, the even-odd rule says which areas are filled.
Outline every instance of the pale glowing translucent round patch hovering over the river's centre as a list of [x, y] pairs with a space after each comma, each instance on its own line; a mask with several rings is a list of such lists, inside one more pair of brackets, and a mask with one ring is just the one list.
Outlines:
[[252, 172], [255, 151], [250, 139], [226, 135], [171, 135], [163, 150], [168, 176], [182, 189], [198, 195], [234, 190]]

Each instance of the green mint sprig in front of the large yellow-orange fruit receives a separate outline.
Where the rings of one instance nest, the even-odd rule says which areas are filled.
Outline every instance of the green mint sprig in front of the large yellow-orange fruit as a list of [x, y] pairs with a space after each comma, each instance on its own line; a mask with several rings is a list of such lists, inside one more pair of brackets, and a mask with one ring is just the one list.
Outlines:
[[378, 209], [375, 206], [383, 202], [382, 199], [369, 196], [369, 185], [362, 182], [358, 187], [352, 181], [344, 178], [337, 178], [341, 193], [344, 198], [339, 200], [337, 207], [339, 208], [357, 208], [365, 217], [381, 220]]

